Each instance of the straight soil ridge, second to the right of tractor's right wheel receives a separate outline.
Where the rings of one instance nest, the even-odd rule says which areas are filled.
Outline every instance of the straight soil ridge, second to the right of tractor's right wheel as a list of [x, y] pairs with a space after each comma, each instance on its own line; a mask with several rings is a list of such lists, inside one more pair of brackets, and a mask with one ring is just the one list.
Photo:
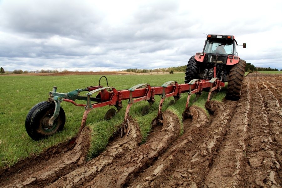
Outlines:
[[271, 142], [274, 138], [272, 138], [269, 131], [269, 120], [264, 106], [264, 99], [257, 83], [251, 82], [251, 91], [253, 91], [251, 97], [251, 130], [249, 133], [248, 150], [246, 152], [249, 166], [246, 168], [248, 176], [246, 177], [245, 186], [265, 187], [273, 183], [277, 185], [275, 180], [273, 182], [271, 181], [271, 176], [276, 174], [271, 170], [272, 167], [270, 165], [275, 160], [272, 159], [274, 153], [271, 150], [273, 149]]

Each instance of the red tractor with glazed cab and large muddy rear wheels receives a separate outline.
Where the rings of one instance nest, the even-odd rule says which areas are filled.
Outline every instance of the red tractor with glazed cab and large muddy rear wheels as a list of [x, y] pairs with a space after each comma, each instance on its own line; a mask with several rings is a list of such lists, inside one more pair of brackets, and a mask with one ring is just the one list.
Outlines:
[[[196, 53], [188, 61], [185, 83], [193, 79], [210, 80], [217, 77], [222, 82], [228, 82], [226, 99], [239, 100], [246, 61], [238, 56], [237, 46], [237, 41], [232, 35], [208, 34], [203, 52]], [[246, 43], [243, 48], [246, 48]]]

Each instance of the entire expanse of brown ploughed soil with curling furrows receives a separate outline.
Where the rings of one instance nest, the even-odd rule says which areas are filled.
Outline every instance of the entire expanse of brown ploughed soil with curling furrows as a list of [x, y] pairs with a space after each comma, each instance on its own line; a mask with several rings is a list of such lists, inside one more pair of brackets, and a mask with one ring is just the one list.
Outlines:
[[192, 119], [163, 112], [141, 144], [129, 119], [126, 138], [86, 161], [89, 130], [75, 147], [62, 143], [0, 170], [0, 187], [281, 187], [282, 76], [250, 73], [239, 101], [212, 101], [210, 115], [191, 107]]

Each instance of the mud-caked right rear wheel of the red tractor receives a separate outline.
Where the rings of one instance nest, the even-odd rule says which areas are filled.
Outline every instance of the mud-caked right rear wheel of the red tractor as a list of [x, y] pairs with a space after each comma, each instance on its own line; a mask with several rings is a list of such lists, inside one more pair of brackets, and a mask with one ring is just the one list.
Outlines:
[[238, 101], [241, 95], [241, 89], [245, 76], [246, 61], [239, 60], [239, 62], [232, 66], [227, 84], [226, 99]]

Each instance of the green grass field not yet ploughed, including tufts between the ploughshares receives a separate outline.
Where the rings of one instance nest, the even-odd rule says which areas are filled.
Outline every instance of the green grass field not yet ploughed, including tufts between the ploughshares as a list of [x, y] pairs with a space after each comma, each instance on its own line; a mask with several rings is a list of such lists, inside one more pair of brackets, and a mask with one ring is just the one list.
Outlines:
[[[71, 103], [62, 102], [61, 107], [65, 111], [66, 123], [64, 130], [54, 134], [47, 139], [40, 141], [32, 140], [25, 130], [25, 118], [29, 110], [37, 103], [45, 101], [49, 97], [49, 91], [53, 86], [57, 86], [57, 92], [66, 93], [75, 89], [82, 89], [88, 86], [99, 85], [100, 76], [77, 75], [77, 76], [0, 76], [0, 167], [11, 166], [19, 159], [36, 155], [53, 145], [68, 141], [73, 138], [81, 125], [81, 118], [84, 107], [76, 107]], [[170, 75], [126, 75], [126, 76], [107, 76], [109, 86], [114, 86], [117, 90], [129, 89], [140, 83], [149, 83], [151, 86], [161, 86], [166, 81], [178, 81], [184, 83], [184, 73], [175, 73]], [[101, 80], [101, 85], [106, 86], [106, 81]], [[223, 89], [213, 97], [221, 101], [225, 97], [226, 90]], [[84, 93], [81, 93], [83, 95]], [[193, 101], [194, 95], [191, 96]], [[195, 102], [195, 105], [204, 107], [207, 93]], [[156, 117], [160, 97], [155, 97], [151, 111], [141, 115], [141, 111], [148, 102], [142, 101], [134, 103], [130, 109], [129, 115], [137, 119], [143, 141], [150, 131], [150, 123]], [[163, 110], [170, 108], [178, 112], [179, 116], [185, 109], [187, 93], [181, 94], [181, 98], [174, 106], [169, 106], [170, 100], [165, 100]], [[86, 104], [85, 101], [77, 103]], [[127, 101], [123, 101], [123, 108], [111, 120], [104, 121], [104, 115], [109, 106], [93, 109], [87, 118], [86, 124], [92, 129], [92, 142], [89, 151], [89, 158], [97, 156], [108, 143], [108, 139], [114, 133], [118, 126], [123, 122]], [[112, 107], [114, 108], [114, 107]]]

